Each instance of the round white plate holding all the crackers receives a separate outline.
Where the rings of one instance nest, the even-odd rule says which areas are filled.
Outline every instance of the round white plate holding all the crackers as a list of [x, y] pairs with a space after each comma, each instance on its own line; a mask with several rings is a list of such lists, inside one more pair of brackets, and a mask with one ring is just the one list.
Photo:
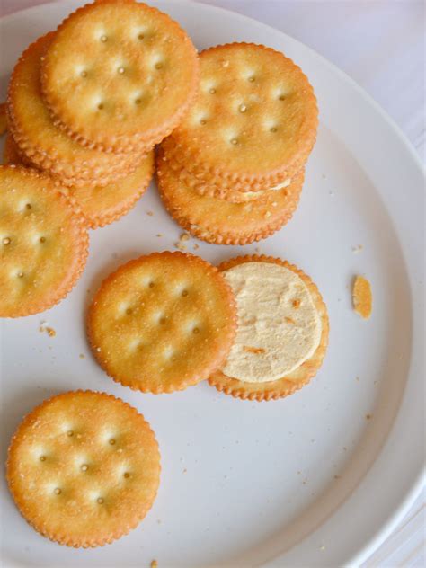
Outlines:
[[[3, 90], [22, 49], [78, 4], [41, 5], [4, 19]], [[207, 383], [174, 395], [142, 395], [106, 377], [84, 338], [88, 288], [93, 292], [129, 258], [173, 249], [182, 233], [153, 185], [127, 217], [91, 234], [87, 268], [66, 301], [3, 323], [1, 436], [5, 457], [22, 415], [47, 396], [75, 388], [108, 391], [136, 405], [155, 429], [163, 456], [158, 498], [128, 537], [72, 550], [25, 523], [2, 478], [4, 563], [359, 564], [401, 518], [422, 478], [422, 168], [377, 105], [297, 41], [207, 5], [155, 5], [181, 22], [200, 49], [235, 40], [264, 43], [294, 58], [314, 84], [321, 126], [294, 219], [259, 245], [201, 244], [198, 253], [219, 262], [259, 246], [296, 262], [328, 305], [330, 348], [311, 385], [278, 402], [234, 400]], [[363, 250], [353, 253], [359, 244]], [[356, 273], [372, 282], [368, 322], [351, 310]], [[42, 320], [57, 330], [55, 338], [39, 333]]]

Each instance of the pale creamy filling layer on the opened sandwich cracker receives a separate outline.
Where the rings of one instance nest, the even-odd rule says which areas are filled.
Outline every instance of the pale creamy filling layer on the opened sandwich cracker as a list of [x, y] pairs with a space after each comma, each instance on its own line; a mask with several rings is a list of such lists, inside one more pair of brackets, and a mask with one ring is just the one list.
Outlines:
[[223, 271], [232, 288], [238, 328], [222, 372], [247, 383], [285, 377], [314, 354], [321, 319], [305, 282], [271, 262], [244, 262]]

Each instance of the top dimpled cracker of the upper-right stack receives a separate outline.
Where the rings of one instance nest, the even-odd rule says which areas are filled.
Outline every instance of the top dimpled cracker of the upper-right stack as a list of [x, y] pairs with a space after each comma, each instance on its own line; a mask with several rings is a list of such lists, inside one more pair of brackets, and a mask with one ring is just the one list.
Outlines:
[[291, 59], [233, 43], [200, 53], [197, 101], [172, 138], [188, 169], [253, 182], [297, 172], [317, 122], [315, 94]]

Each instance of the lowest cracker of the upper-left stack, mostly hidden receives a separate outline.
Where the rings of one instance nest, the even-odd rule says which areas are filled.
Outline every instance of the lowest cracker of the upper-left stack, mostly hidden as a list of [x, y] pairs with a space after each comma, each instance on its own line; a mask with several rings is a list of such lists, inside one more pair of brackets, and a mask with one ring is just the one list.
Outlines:
[[[8, 134], [4, 143], [5, 164], [22, 164], [22, 155]], [[59, 188], [78, 210], [91, 229], [109, 225], [123, 217], [136, 205], [145, 193], [154, 173], [154, 153], [143, 158], [134, 173], [129, 173], [106, 186], [83, 185], [81, 187]]]

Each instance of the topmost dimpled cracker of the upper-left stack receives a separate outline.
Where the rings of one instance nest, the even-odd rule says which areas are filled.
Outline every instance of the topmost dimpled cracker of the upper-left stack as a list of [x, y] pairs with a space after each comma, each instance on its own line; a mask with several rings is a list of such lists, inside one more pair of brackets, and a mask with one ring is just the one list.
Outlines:
[[129, 149], [164, 138], [198, 82], [198, 55], [169, 16], [146, 4], [87, 4], [59, 26], [42, 89], [63, 128], [85, 144]]

